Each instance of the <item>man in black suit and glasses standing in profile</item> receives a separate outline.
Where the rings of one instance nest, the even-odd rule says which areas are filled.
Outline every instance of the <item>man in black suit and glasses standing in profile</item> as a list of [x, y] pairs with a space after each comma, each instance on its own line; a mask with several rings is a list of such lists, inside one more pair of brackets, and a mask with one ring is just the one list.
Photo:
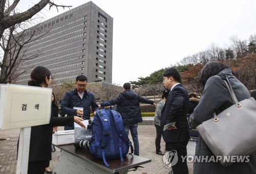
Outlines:
[[188, 93], [181, 85], [180, 74], [176, 68], [169, 68], [164, 72], [163, 84], [166, 90], [169, 90], [169, 94], [161, 113], [161, 129], [170, 122], [176, 122], [175, 126], [169, 126], [164, 131], [164, 141], [167, 143], [168, 152], [176, 151], [178, 156], [178, 161], [177, 159], [170, 161], [175, 161], [172, 163], [173, 172], [186, 174], [188, 168], [185, 156], [187, 155], [186, 146], [189, 140], [189, 128], [186, 119], [189, 108]]

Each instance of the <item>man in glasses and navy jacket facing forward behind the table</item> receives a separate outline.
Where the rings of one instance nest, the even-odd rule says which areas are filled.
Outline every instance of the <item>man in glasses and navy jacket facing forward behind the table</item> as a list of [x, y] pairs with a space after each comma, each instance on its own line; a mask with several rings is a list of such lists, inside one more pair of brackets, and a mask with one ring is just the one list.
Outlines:
[[[61, 113], [67, 116], [78, 115], [83, 119], [90, 119], [90, 107], [94, 114], [99, 110], [94, 94], [86, 90], [87, 77], [80, 75], [76, 77], [76, 88], [68, 91], [61, 101]], [[73, 127], [65, 127], [65, 130], [73, 130]]]

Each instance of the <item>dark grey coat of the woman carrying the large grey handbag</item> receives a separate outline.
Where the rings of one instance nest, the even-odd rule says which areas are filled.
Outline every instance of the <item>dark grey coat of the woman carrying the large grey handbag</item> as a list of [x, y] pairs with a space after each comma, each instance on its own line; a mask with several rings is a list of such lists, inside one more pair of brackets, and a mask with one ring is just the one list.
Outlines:
[[[238, 101], [242, 101], [250, 97], [248, 89], [236, 77], [232, 75], [230, 69], [224, 69], [220, 73], [225, 73], [227, 75], [227, 78], [238, 98]], [[193, 128], [196, 128], [203, 121], [212, 118], [214, 112], [216, 112], [218, 115], [221, 111], [225, 110], [231, 105], [233, 105], [233, 103], [225, 82], [219, 76], [212, 76], [207, 80], [205, 84], [204, 91], [198, 106], [194, 109], [194, 113], [190, 115], [190, 123]], [[238, 131], [240, 129], [243, 128], [238, 128]], [[208, 156], [208, 158], [214, 156], [200, 135], [198, 137], [195, 155], [201, 157]], [[250, 155], [249, 162], [236, 162], [227, 167], [223, 167], [219, 162], [194, 161], [194, 174], [255, 173], [255, 171], [256, 153]]]

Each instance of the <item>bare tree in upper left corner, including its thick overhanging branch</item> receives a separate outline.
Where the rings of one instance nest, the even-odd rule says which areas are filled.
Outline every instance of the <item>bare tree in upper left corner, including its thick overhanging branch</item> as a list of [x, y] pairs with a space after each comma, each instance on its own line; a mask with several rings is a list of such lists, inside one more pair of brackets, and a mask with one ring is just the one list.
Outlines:
[[19, 64], [40, 55], [40, 51], [34, 55], [26, 53], [26, 45], [35, 42], [47, 33], [47, 31], [40, 33], [37, 26], [29, 28], [38, 23], [33, 23], [36, 19], [34, 16], [48, 4], [50, 8], [55, 6], [57, 9], [58, 7], [72, 7], [60, 6], [50, 0], [41, 0], [27, 11], [19, 13], [16, 10], [18, 3], [19, 0], [14, 0], [12, 4], [9, 0], [0, 1], [0, 46], [2, 48], [0, 50], [0, 83], [12, 83], [20, 74], [32, 68], [30, 66], [27, 69], [19, 69]]

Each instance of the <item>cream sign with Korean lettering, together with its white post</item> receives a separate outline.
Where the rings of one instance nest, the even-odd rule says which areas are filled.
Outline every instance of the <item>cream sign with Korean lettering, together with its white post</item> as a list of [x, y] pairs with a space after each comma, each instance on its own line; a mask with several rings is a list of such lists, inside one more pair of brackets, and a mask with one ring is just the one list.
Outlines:
[[51, 88], [0, 84], [0, 130], [20, 128], [16, 174], [28, 173], [31, 127], [49, 124], [51, 96]]

